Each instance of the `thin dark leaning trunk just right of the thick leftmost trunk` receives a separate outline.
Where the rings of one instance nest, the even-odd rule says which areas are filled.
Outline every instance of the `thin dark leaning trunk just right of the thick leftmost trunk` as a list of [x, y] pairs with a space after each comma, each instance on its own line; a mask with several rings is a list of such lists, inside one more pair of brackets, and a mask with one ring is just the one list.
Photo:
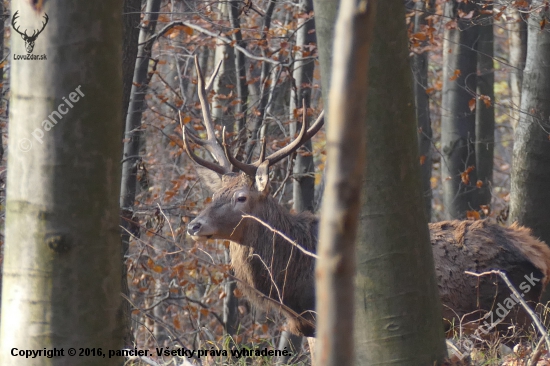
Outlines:
[[[145, 17], [141, 24], [139, 32], [139, 43], [145, 42], [155, 32], [156, 21], [160, 9], [160, 0], [148, 0], [145, 9]], [[134, 201], [137, 191], [137, 168], [141, 161], [139, 152], [142, 138], [141, 116], [145, 108], [145, 95], [147, 93], [147, 71], [149, 68], [149, 58], [151, 57], [151, 47], [140, 45], [135, 59], [135, 68], [133, 73], [133, 82], [131, 83], [130, 104], [126, 115], [126, 127], [124, 130], [124, 152], [122, 160], [122, 182], [120, 192], [121, 209], [121, 240], [122, 253], [126, 255], [130, 245], [130, 233], [136, 234], [139, 230], [133, 222]], [[123, 282], [127, 281], [126, 273], [123, 271]], [[124, 288], [124, 285], [123, 285]], [[126, 307], [126, 306], [125, 306]], [[129, 342], [126, 335], [126, 342]]]

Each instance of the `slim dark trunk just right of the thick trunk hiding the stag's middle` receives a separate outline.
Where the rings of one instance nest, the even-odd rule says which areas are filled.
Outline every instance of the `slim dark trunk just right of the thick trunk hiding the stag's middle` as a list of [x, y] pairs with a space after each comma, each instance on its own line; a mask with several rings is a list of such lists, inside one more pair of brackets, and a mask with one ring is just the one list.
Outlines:
[[[433, 11], [434, 0], [429, 2], [418, 1], [414, 3], [414, 33], [422, 33], [426, 25], [426, 12]], [[426, 5], [428, 7], [426, 8]], [[427, 41], [421, 42], [422, 46]], [[420, 165], [422, 171], [422, 192], [424, 195], [424, 207], [428, 214], [428, 220], [432, 216], [432, 124], [430, 121], [430, 98], [428, 88], [428, 51], [414, 53], [412, 56], [412, 70], [414, 74], [414, 100], [416, 106], [416, 121], [418, 123], [418, 146], [420, 148]]]

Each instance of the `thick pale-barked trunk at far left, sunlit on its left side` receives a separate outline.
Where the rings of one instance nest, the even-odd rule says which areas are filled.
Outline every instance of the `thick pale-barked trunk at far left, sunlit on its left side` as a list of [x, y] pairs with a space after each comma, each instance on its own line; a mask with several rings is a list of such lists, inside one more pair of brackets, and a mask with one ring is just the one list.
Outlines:
[[122, 346], [122, 1], [31, 3], [12, 6], [24, 27], [49, 16], [34, 47], [47, 59], [11, 62], [0, 364], [120, 365], [69, 350]]

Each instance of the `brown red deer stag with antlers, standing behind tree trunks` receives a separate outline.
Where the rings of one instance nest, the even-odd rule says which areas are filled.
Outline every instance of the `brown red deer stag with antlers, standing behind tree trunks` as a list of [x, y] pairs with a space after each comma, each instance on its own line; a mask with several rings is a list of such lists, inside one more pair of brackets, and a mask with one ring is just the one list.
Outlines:
[[[312, 337], [314, 257], [261, 222], [243, 215], [267, 223], [306, 251], [315, 252], [317, 218], [311, 213], [289, 213], [270, 196], [268, 168], [311, 138], [323, 123], [322, 115], [309, 130], [304, 121], [298, 137], [282, 150], [265, 157], [264, 144], [260, 159], [244, 164], [229, 153], [225, 134], [223, 147], [218, 143], [198, 65], [197, 74], [207, 139], [201, 140], [184, 128], [184, 146], [192, 160], [219, 175], [219, 182], [212, 202], [189, 223], [187, 231], [195, 239], [229, 240], [231, 264], [243, 293], [264, 309], [279, 304], [290, 331]], [[207, 149], [217, 164], [196, 156], [189, 140]], [[466, 270], [500, 269], [524, 292], [525, 300], [539, 300], [550, 278], [550, 249], [531, 236], [528, 229], [515, 225], [504, 228], [488, 221], [445, 221], [429, 226], [439, 292], [448, 321], [456, 324], [457, 320], [479, 319], [479, 310], [489, 311], [498, 304], [509, 306], [509, 291], [500, 279], [474, 277], [465, 274]], [[467, 314], [470, 315], [462, 318]], [[519, 315], [518, 322], [528, 321], [525, 314]]]

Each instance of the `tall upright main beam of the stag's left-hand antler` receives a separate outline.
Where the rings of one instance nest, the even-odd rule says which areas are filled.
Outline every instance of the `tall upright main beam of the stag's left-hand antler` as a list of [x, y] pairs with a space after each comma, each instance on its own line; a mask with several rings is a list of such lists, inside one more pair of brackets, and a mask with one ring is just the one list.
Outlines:
[[212, 115], [210, 114], [210, 106], [208, 104], [208, 98], [206, 95], [206, 89], [204, 86], [204, 77], [199, 65], [199, 60], [197, 55], [195, 55], [195, 67], [197, 69], [197, 80], [198, 80], [198, 94], [199, 101], [201, 103], [202, 117], [204, 121], [204, 126], [206, 127], [206, 141], [202, 141], [200, 145], [204, 146], [210, 154], [218, 161], [218, 164], [226, 171], [231, 171], [231, 163], [227, 159], [224, 149], [218, 143], [216, 139], [216, 132], [214, 129], [214, 123], [212, 122]]

